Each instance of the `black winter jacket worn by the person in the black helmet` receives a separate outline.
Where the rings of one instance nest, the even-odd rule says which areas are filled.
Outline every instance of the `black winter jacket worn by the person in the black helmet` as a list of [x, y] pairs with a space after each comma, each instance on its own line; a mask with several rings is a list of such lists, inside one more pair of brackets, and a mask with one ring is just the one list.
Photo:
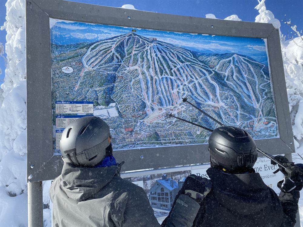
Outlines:
[[[298, 195], [283, 193], [278, 197], [265, 185], [259, 173], [227, 174], [219, 169], [209, 168], [207, 174], [212, 181], [212, 189], [202, 201], [193, 227], [295, 225]], [[170, 215], [167, 219], [169, 217]], [[166, 219], [162, 224], [165, 222]]]

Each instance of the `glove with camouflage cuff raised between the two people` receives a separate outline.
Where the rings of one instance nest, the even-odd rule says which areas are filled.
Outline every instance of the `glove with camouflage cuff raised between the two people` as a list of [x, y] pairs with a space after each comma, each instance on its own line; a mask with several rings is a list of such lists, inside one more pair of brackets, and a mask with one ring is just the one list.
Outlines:
[[205, 196], [210, 192], [211, 186], [211, 180], [191, 174], [186, 177], [180, 192], [195, 199], [198, 203], [201, 203]]

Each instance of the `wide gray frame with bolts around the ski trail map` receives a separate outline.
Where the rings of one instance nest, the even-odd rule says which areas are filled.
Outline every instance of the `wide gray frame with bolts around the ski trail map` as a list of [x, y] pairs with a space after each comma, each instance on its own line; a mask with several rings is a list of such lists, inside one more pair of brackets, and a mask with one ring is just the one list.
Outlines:
[[[282, 62], [279, 31], [271, 24], [168, 15], [62, 0], [26, 1], [27, 175], [30, 182], [54, 179], [61, 173], [61, 156], [53, 156], [52, 87], [49, 18], [209, 35], [267, 38], [269, 69], [280, 138], [256, 140], [274, 155], [295, 152]], [[208, 163], [207, 144], [132, 149], [114, 153], [125, 160], [123, 171]], [[143, 156], [143, 159], [140, 158]]]

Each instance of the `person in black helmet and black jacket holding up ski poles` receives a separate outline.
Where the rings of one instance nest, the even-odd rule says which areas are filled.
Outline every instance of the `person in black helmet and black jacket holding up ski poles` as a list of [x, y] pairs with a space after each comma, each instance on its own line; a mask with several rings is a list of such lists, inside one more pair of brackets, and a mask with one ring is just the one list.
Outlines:
[[254, 140], [245, 130], [219, 127], [212, 132], [208, 143], [211, 167], [206, 172], [212, 190], [200, 203], [194, 227], [295, 225], [302, 169], [285, 160], [288, 169], [281, 169], [285, 179], [278, 183], [281, 189], [278, 197], [253, 169], [258, 153]]

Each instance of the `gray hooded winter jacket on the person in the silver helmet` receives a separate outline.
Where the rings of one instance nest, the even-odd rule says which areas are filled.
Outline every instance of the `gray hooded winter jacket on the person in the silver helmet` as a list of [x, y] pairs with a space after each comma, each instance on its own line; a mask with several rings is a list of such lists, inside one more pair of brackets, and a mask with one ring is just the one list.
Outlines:
[[[53, 226], [160, 226], [144, 190], [122, 179], [120, 168], [64, 163], [49, 189]], [[199, 208], [193, 199], [180, 195], [165, 226], [192, 226]]]

